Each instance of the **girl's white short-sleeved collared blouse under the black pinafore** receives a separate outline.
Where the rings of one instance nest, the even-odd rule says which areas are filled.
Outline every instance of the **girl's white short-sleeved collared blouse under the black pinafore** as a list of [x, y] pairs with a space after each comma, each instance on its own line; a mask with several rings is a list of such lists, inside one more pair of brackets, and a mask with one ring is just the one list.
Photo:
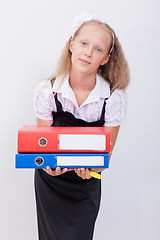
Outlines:
[[36, 117], [43, 120], [52, 120], [52, 111], [56, 110], [53, 92], [57, 92], [58, 100], [62, 103], [63, 111], [74, 114], [76, 118], [87, 122], [100, 119], [104, 99], [105, 124], [104, 126], [118, 126], [126, 112], [126, 96], [123, 90], [116, 89], [110, 96], [110, 87], [106, 80], [97, 75], [96, 84], [87, 99], [79, 107], [72, 88], [69, 85], [69, 76], [59, 86], [61, 78], [56, 78], [53, 87], [50, 80], [38, 83], [33, 91]]

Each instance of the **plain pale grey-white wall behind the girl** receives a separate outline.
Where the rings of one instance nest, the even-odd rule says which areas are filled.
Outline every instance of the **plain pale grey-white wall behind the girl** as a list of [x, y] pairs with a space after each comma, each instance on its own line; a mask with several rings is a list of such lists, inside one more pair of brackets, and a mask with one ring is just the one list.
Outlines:
[[94, 240], [160, 239], [159, 9], [159, 0], [0, 1], [0, 239], [38, 239], [34, 170], [14, 169], [17, 131], [36, 124], [32, 90], [54, 72], [83, 11], [113, 27], [131, 71]]

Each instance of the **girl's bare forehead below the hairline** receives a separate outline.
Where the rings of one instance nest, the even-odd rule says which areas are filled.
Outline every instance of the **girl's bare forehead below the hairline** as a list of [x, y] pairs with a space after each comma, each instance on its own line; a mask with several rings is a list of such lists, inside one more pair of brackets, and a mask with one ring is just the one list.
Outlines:
[[97, 39], [102, 42], [111, 42], [110, 33], [100, 24], [84, 25], [78, 32], [77, 37], [85, 37], [89, 39]]

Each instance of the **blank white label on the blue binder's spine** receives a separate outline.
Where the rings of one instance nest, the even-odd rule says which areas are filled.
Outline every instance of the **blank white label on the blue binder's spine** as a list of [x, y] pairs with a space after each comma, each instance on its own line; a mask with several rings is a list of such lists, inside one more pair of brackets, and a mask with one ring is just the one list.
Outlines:
[[57, 157], [57, 166], [104, 166], [103, 156], [70, 156]]

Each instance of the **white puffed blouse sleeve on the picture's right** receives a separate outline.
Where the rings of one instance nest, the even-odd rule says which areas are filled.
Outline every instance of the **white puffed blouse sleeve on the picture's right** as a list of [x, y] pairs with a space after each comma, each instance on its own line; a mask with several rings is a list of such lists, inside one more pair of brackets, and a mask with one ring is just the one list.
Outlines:
[[119, 126], [126, 113], [127, 98], [123, 90], [116, 89], [106, 101], [105, 126]]

